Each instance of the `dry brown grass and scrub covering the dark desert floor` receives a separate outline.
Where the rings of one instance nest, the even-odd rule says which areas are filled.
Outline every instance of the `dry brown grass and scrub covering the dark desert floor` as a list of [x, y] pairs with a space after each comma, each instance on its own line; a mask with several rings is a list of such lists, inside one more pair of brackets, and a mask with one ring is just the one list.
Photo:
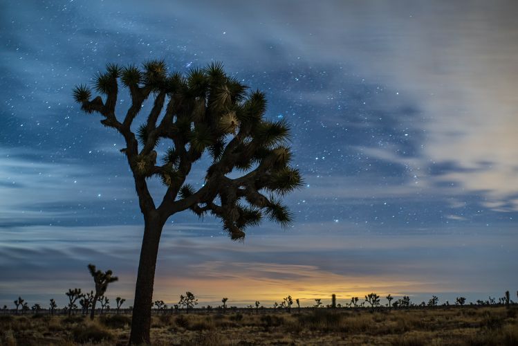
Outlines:
[[[0, 316], [0, 345], [125, 345], [129, 316]], [[517, 311], [452, 307], [153, 316], [153, 345], [518, 345]]]

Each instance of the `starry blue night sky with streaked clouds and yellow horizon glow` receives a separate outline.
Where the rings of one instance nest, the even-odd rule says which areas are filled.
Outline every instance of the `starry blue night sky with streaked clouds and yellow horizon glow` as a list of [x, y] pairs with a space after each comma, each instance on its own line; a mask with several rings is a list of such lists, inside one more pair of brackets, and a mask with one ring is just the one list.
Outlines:
[[107, 62], [162, 58], [182, 73], [221, 61], [266, 92], [305, 183], [285, 199], [293, 227], [266, 222], [244, 243], [217, 219], [174, 215], [155, 300], [516, 291], [517, 13], [516, 1], [2, 1], [0, 304], [62, 307], [68, 289], [93, 289], [89, 263], [132, 304], [143, 219], [123, 139], [72, 89]]

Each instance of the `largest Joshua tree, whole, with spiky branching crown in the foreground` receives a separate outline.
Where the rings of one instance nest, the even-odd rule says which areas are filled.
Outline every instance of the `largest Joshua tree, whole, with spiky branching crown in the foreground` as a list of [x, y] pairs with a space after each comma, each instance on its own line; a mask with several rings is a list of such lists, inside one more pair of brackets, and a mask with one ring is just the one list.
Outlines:
[[[131, 100], [124, 119], [115, 113], [119, 80]], [[265, 95], [247, 93], [248, 87], [225, 74], [221, 63], [193, 69], [186, 77], [167, 75], [163, 61], [146, 62], [142, 70], [109, 64], [107, 72], [96, 76], [95, 90], [102, 96], [93, 98], [84, 84], [75, 87], [73, 96], [83, 111], [99, 113], [102, 125], [118, 131], [125, 141], [121, 152], [133, 174], [145, 224], [129, 343], [149, 343], [158, 244], [167, 219], [184, 210], [200, 217], [211, 213], [234, 240], [243, 239], [244, 230], [257, 226], [263, 216], [286, 227], [292, 215], [279, 197], [302, 186], [302, 179], [289, 166], [287, 123], [263, 118]], [[153, 106], [136, 135], [133, 120], [150, 95]], [[163, 165], [157, 164], [155, 150], [160, 140], [171, 143]], [[204, 152], [212, 156], [212, 163], [196, 190], [185, 181]], [[242, 176], [228, 176], [239, 170], [245, 171]], [[165, 185], [158, 206], [147, 186], [151, 177]]]

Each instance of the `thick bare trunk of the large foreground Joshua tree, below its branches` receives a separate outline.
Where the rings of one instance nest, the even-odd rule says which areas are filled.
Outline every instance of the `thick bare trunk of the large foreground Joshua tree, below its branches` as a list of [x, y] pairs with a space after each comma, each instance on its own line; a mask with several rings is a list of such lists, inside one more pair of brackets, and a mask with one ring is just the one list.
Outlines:
[[144, 220], [144, 237], [138, 262], [129, 345], [150, 343], [149, 329], [151, 328], [151, 304], [153, 302], [156, 257], [164, 222], [156, 212], [154, 215], [145, 215]]

